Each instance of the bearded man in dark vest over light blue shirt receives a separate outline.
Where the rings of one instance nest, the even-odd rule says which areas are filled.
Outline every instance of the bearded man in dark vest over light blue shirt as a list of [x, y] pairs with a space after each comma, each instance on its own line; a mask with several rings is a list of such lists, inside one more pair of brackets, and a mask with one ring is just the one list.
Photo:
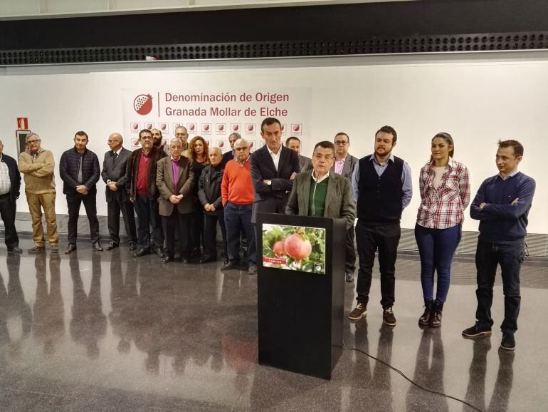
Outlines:
[[383, 126], [375, 134], [375, 153], [354, 168], [352, 186], [357, 203], [356, 241], [359, 255], [357, 305], [348, 315], [357, 321], [367, 314], [375, 252], [379, 250], [383, 321], [396, 326], [392, 311], [396, 279], [396, 255], [401, 235], [401, 212], [411, 202], [411, 168], [392, 154], [397, 134]]

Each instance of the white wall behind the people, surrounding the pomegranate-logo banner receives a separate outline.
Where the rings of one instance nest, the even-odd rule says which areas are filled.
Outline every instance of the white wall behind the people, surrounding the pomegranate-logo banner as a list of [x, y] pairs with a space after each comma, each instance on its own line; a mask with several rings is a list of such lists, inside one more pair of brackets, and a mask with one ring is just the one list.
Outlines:
[[[85, 130], [90, 135], [88, 147], [98, 153], [102, 162], [107, 136], [122, 130], [124, 88], [181, 91], [307, 87], [312, 89], [313, 138], [303, 142], [305, 152], [310, 152], [315, 142], [331, 140], [334, 133], [345, 131], [351, 138], [350, 152], [362, 157], [372, 152], [374, 132], [380, 126], [396, 128], [399, 138], [394, 153], [411, 165], [415, 191], [404, 212], [403, 227], [414, 226], [418, 171], [428, 160], [430, 140], [435, 133], [446, 131], [455, 139], [455, 159], [468, 165], [473, 194], [485, 177], [497, 172], [497, 140], [520, 140], [525, 146], [520, 170], [537, 180], [529, 232], [548, 233], [548, 183], [543, 167], [548, 61], [254, 69], [194, 66], [21, 76], [13, 70], [9, 76], [0, 76], [4, 96], [0, 101], [0, 125], [4, 151], [10, 155], [16, 152], [16, 117], [27, 116], [30, 127], [43, 138], [43, 147], [53, 150], [56, 161], [63, 150], [71, 147], [75, 131]], [[58, 192], [61, 187], [58, 179]], [[100, 181], [99, 215], [106, 214], [104, 189]], [[63, 195], [58, 195], [56, 206], [60, 213], [67, 211]], [[28, 210], [24, 196], [18, 210]], [[477, 222], [467, 218], [464, 229], [476, 230]]]

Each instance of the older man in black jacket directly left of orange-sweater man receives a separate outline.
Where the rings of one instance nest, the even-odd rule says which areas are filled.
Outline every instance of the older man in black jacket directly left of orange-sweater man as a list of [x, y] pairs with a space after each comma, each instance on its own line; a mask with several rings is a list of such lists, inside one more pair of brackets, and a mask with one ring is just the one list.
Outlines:
[[204, 207], [204, 256], [200, 263], [214, 262], [217, 259], [217, 222], [223, 237], [223, 257], [226, 258], [226, 227], [224, 224], [221, 181], [223, 180], [223, 152], [221, 148], [209, 149], [209, 165], [201, 172], [198, 182], [198, 198]]

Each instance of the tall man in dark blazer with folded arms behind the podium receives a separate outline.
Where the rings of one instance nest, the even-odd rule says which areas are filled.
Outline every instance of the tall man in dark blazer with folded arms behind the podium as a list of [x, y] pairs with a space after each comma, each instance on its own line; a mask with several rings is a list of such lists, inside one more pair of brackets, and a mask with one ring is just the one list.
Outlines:
[[253, 215], [258, 212], [285, 213], [293, 179], [300, 172], [299, 155], [281, 144], [282, 125], [276, 118], [265, 118], [260, 125], [265, 145], [251, 155], [251, 179], [255, 189]]

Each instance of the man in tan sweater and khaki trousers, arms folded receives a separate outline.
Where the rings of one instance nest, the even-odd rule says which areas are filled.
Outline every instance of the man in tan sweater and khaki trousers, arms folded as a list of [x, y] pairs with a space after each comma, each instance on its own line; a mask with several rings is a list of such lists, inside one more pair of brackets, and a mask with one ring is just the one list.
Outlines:
[[26, 137], [28, 151], [19, 156], [19, 172], [23, 173], [28, 211], [32, 218], [34, 247], [28, 253], [43, 252], [46, 241], [42, 227], [42, 210], [46, 215], [48, 242], [51, 253], [59, 252], [59, 235], [56, 218], [56, 181], [53, 175], [55, 160], [50, 150], [41, 148], [40, 136], [31, 133]]

